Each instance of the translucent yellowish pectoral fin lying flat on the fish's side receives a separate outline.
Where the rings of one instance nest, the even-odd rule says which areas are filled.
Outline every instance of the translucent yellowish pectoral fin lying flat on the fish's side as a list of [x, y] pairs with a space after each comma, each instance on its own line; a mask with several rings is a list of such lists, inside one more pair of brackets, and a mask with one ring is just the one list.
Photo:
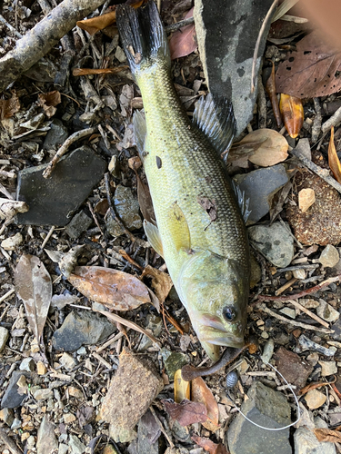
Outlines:
[[176, 246], [177, 252], [188, 252], [191, 249], [188, 223], [184, 212], [181, 210], [177, 202], [173, 203], [169, 210], [168, 231]]

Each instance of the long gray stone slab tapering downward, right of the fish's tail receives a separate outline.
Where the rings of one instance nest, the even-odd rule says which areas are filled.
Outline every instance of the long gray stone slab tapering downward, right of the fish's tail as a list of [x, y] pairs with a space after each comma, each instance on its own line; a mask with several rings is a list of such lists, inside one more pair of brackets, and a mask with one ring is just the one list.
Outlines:
[[[234, 105], [237, 135], [253, 118], [256, 92], [251, 94], [251, 69], [256, 40], [271, 0], [219, 0], [195, 2], [196, 37], [206, 84], [213, 94], [225, 94]], [[266, 26], [258, 55], [263, 55]], [[261, 56], [256, 61], [256, 74]]]

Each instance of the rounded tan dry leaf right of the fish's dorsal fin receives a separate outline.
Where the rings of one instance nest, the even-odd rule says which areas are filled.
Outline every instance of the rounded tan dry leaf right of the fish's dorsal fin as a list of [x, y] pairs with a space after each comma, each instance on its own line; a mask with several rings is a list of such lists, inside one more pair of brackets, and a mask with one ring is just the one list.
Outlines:
[[[256, 147], [256, 143], [259, 143], [258, 147]], [[255, 153], [249, 156], [248, 159], [251, 163], [262, 167], [285, 161], [289, 147], [286, 138], [282, 134], [266, 128], [247, 134], [238, 144], [245, 146], [251, 144]]]

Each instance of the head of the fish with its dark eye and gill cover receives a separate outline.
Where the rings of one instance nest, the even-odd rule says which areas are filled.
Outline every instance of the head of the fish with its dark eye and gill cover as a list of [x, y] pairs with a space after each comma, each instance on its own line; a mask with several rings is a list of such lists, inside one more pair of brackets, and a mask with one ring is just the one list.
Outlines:
[[249, 276], [239, 262], [213, 252], [195, 252], [180, 273], [177, 289], [208, 356], [218, 347], [244, 345]]

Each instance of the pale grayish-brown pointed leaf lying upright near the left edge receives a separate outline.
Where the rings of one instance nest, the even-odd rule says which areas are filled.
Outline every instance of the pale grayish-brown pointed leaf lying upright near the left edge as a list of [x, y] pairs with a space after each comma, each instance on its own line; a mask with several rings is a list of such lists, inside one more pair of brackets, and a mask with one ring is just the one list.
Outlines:
[[15, 291], [24, 301], [27, 321], [40, 343], [52, 299], [52, 281], [35, 255], [21, 256], [15, 268]]

